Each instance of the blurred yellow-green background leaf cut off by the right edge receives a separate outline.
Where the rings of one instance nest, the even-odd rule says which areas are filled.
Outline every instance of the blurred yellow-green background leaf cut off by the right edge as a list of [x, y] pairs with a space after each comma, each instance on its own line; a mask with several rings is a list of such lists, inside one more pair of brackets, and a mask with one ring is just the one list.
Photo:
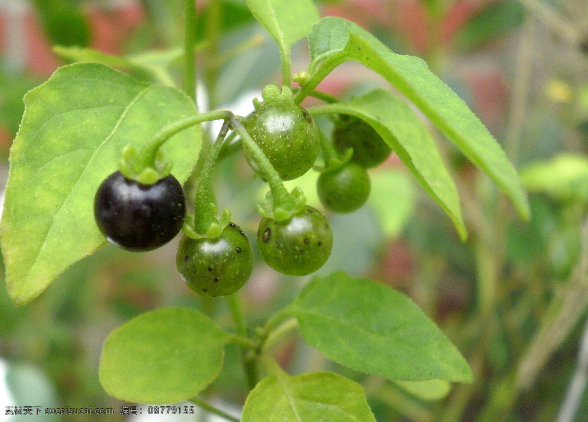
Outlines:
[[549, 161], [533, 163], [520, 171], [523, 185], [560, 200], [588, 201], [588, 157], [560, 154]]

